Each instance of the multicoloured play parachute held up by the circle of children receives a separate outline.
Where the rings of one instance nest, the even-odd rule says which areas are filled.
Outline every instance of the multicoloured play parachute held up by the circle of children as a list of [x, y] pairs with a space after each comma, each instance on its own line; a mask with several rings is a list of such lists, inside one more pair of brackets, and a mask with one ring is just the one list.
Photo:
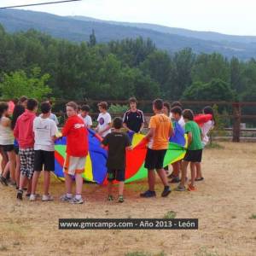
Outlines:
[[[167, 166], [181, 160], [184, 157], [186, 139], [183, 128], [174, 124], [174, 135], [170, 140], [164, 165]], [[148, 172], [144, 168], [144, 160], [147, 153], [147, 142], [142, 134], [130, 133], [133, 149], [126, 153], [125, 183], [134, 182], [147, 177]], [[106, 183], [108, 152], [101, 147], [102, 138], [95, 131], [89, 130], [89, 155], [84, 166], [84, 180], [96, 183]], [[55, 175], [64, 179], [62, 167], [66, 155], [66, 137], [62, 137], [55, 143]]]

